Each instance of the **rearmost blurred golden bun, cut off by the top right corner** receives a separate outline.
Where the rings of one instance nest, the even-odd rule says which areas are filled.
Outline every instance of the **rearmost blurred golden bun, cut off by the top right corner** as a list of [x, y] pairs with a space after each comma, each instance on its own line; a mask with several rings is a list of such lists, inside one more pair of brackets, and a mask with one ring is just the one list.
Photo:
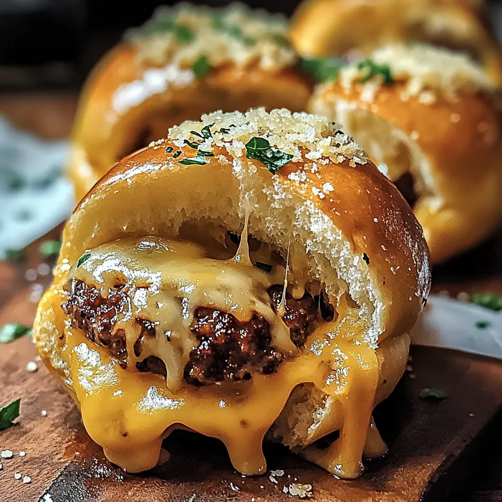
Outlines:
[[502, 83], [502, 52], [479, 2], [452, 0], [305, 0], [290, 39], [303, 57], [369, 54], [387, 43], [420, 41], [470, 54]]

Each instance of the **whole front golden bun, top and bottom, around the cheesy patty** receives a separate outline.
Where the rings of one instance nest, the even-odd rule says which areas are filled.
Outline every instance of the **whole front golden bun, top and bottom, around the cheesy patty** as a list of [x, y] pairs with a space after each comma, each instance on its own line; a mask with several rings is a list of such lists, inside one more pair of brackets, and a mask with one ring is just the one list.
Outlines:
[[[210, 128], [212, 132], [214, 143], [210, 148], [214, 157], [206, 157], [207, 163], [203, 165], [184, 165], [186, 160], [194, 159], [194, 149], [183, 145], [183, 142], [197, 140], [198, 137], [190, 131], [198, 132], [203, 127]], [[216, 138], [220, 129], [232, 132], [229, 136], [225, 133], [223, 137]], [[71, 390], [77, 389], [77, 400], [87, 398], [82, 397], [83, 391], [78, 389], [80, 383], [68, 378], [68, 374], [76, 369], [70, 368], [68, 349], [58, 345], [58, 339], [65, 331], [60, 304], [69, 269], [75, 270], [75, 263], [88, 250], [126, 237], [152, 235], [176, 239], [187, 228], [196, 228], [210, 242], [211, 238], [218, 238], [217, 229], [220, 226], [240, 232], [247, 210], [249, 234], [278, 249], [283, 257], [286, 257], [286, 249], [291, 242], [289, 260], [293, 270], [304, 271], [311, 279], [321, 281], [326, 292], [340, 299], [341, 303], [346, 295], [357, 303], [357, 320], [349, 321], [347, 317], [345, 324], [338, 325], [335, 338], [343, 348], [344, 337], [350, 339], [352, 333], [360, 332], [360, 343], [350, 347], [356, 352], [361, 350], [366, 354], [361, 359], [369, 361], [367, 366], [363, 364], [360, 373], [355, 373], [355, 367], [350, 368], [349, 374], [360, 375], [360, 379], [354, 378], [347, 383], [348, 387], [362, 386], [358, 387], [358, 391], [354, 390], [358, 398], [350, 403], [359, 406], [364, 402], [369, 406], [370, 413], [376, 403], [390, 394], [406, 365], [409, 348], [407, 332], [415, 323], [429, 292], [428, 249], [420, 225], [394, 185], [365, 159], [359, 147], [345, 135], [338, 132], [335, 141], [333, 135], [337, 131], [336, 125], [328, 126], [319, 117], [305, 113], [292, 115], [284, 109], [274, 110], [271, 114], [263, 109], [251, 110], [245, 115], [214, 112], [203, 116], [202, 122], [186, 122], [174, 128], [170, 138], [121, 160], [99, 180], [66, 224], [54, 283], [41, 301], [34, 327], [35, 341], [44, 362]], [[270, 144], [281, 152], [299, 157], [286, 163], [277, 175], [273, 175], [262, 162], [244, 156], [246, 150], [242, 149], [242, 145], [257, 136], [268, 138]], [[204, 146], [204, 149], [207, 148]], [[178, 151], [181, 154], [173, 157]], [[313, 162], [312, 157], [317, 161]], [[312, 351], [318, 350], [314, 348], [319, 343], [316, 337], [325, 343], [332, 340], [329, 334], [314, 332], [298, 357], [310, 360], [308, 357], [312, 356]], [[90, 344], [82, 337], [79, 340], [78, 347]], [[377, 345], [379, 348], [376, 348]], [[78, 352], [81, 354], [82, 349], [78, 348]], [[328, 356], [333, 358], [329, 352]], [[364, 359], [366, 356], [368, 359]], [[294, 359], [292, 364], [295, 360], [300, 359]], [[357, 364], [354, 362], [353, 365]], [[254, 419], [277, 410], [263, 428], [262, 438], [276, 422], [269, 431], [273, 439], [301, 447], [299, 453], [344, 477], [360, 473], [363, 447], [368, 456], [383, 453], [381, 440], [376, 441], [376, 446], [373, 444], [374, 437], [373, 441], [365, 442], [370, 415], [360, 414], [357, 407], [345, 412], [344, 403], [348, 401], [327, 393], [316, 380], [317, 373], [325, 369], [321, 370], [321, 366], [309, 369], [307, 382], [315, 383], [314, 386], [300, 380], [298, 384], [301, 385], [293, 385], [288, 388], [287, 394], [281, 394], [282, 387], [278, 387], [283, 378], [281, 368], [276, 375], [253, 377], [253, 382], [257, 382], [255, 385], [259, 385], [260, 378], [263, 380], [268, 393], [268, 405], [262, 405], [261, 411], [252, 415]], [[295, 378], [299, 378], [297, 372], [301, 372], [301, 367], [298, 368], [291, 373]], [[130, 373], [129, 369], [121, 370], [120, 374], [125, 373]], [[374, 375], [374, 379], [370, 375]], [[140, 379], [147, 379], [147, 375], [133, 372], [128, 378], [136, 385]], [[322, 376], [321, 382], [323, 378], [326, 377]], [[369, 379], [368, 384], [364, 383], [366, 379]], [[159, 389], [156, 392], [166, 396], [162, 399], [177, 398], [176, 393], [170, 394], [164, 380], [155, 382]], [[145, 383], [146, 388], [150, 385]], [[199, 391], [197, 399], [202, 399], [204, 389]], [[337, 392], [345, 395], [343, 387]], [[187, 395], [184, 396], [189, 402]], [[281, 396], [284, 398], [282, 402]], [[135, 402], [138, 399], [135, 398]], [[197, 413], [190, 414], [192, 421], [209, 420], [216, 413], [206, 412], [205, 405], [197, 406]], [[324, 406], [331, 409], [329, 421], [316, 418]], [[93, 410], [95, 408], [88, 410], [82, 405], [86, 428], [91, 437], [105, 447], [108, 458], [120, 464], [122, 457], [116, 455], [116, 443], [120, 437], [114, 439], [115, 426], [110, 425], [103, 432], [99, 425], [104, 420], [103, 412], [99, 412], [99, 417], [95, 419], [99, 424], [94, 426], [94, 419], [90, 416], [97, 412]], [[298, 426], [292, 425], [295, 416]], [[317, 459], [316, 453], [307, 447], [317, 437], [343, 427], [344, 420], [348, 421], [350, 417], [355, 421], [353, 431], [356, 434], [347, 432], [348, 443], [342, 440], [341, 448], [342, 452], [350, 450], [356, 453], [348, 457], [342, 454], [343, 468], [340, 470], [340, 461], [333, 463], [337, 455]], [[143, 432], [148, 430], [148, 420], [151, 420], [146, 419], [141, 427]], [[114, 420], [111, 417], [110, 424]], [[315, 427], [309, 429], [309, 423]], [[220, 429], [213, 426], [210, 433], [200, 425], [185, 425], [223, 439], [234, 466], [241, 472], [263, 472], [261, 467], [250, 467], [249, 463], [242, 466], [235, 460], [240, 450], [235, 453], [232, 449], [233, 443], [223, 434], [225, 431], [221, 430], [221, 424], [218, 424]], [[118, 426], [116, 429], [123, 430]], [[241, 430], [239, 441], [251, 437], [253, 432]], [[146, 447], [139, 449], [147, 451]], [[151, 467], [158, 458], [158, 451], [154, 449], [155, 452], [157, 457], [152, 454], [132, 468], [143, 470]]]

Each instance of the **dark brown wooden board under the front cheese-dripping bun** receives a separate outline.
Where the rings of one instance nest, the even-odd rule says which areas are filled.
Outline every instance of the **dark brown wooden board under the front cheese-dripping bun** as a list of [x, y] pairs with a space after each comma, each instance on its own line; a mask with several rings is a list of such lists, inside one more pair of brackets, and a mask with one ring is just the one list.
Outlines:
[[[486, 253], [493, 258], [491, 245], [488, 243]], [[45, 287], [50, 280], [38, 277], [30, 284], [24, 279], [26, 269], [41, 262], [37, 248], [38, 244], [30, 246], [27, 261], [17, 267], [0, 262], [0, 326], [33, 320], [41, 289], [37, 285]], [[484, 253], [483, 249], [477, 253]], [[484, 289], [486, 284], [491, 290], [502, 289], [499, 268], [487, 280], [468, 278], [466, 284], [458, 280], [452, 284], [449, 278], [458, 275], [450, 276], [448, 269], [437, 275], [443, 281], [448, 279], [450, 290], [467, 290], [472, 284], [476, 289]], [[435, 287], [442, 288], [442, 284]], [[0, 345], [0, 405], [22, 400], [18, 425], [0, 432], [0, 450], [14, 452], [13, 458], [0, 460], [2, 501], [276, 502], [299, 499], [283, 491], [293, 484], [311, 485], [310, 499], [315, 502], [456, 501], [455, 493], [474, 465], [483, 460], [487, 445], [500, 442], [502, 362], [413, 347], [413, 370], [405, 373], [391, 398], [375, 412], [389, 453], [367, 462], [365, 474], [357, 480], [336, 479], [278, 445], [266, 445], [265, 454], [269, 469], [283, 470], [283, 475], [271, 478], [269, 472], [242, 477], [233, 471], [219, 441], [184, 432], [165, 441], [171, 453], [167, 463], [131, 475], [104, 458], [85, 433], [71, 399], [41, 362], [38, 371], [26, 370], [35, 357], [28, 338]], [[449, 397], [443, 401], [421, 399], [419, 393], [426, 387], [444, 390]], [[21, 457], [20, 451], [26, 456]], [[31, 482], [15, 479], [16, 472], [29, 475]], [[496, 496], [483, 500], [502, 500]]]

